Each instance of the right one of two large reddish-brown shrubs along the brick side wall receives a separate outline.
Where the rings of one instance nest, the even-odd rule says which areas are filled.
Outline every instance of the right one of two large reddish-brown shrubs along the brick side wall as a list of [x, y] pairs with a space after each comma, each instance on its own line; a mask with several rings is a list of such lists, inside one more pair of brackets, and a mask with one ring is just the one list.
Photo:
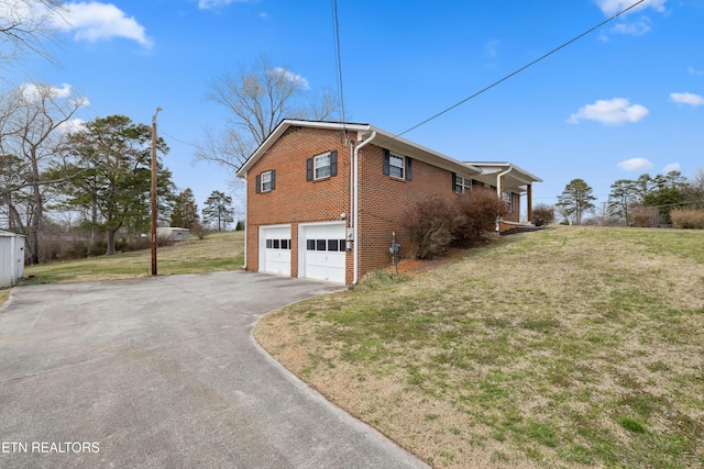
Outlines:
[[472, 189], [460, 194], [455, 202], [454, 238], [460, 244], [472, 244], [484, 233], [496, 228], [496, 220], [506, 213], [506, 202], [490, 189]]

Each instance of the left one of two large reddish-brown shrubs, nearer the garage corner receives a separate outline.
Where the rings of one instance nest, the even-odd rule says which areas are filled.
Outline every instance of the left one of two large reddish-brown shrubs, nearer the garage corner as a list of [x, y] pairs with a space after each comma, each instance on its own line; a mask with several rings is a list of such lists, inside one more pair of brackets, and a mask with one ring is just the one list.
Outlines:
[[452, 205], [441, 197], [430, 197], [407, 210], [403, 226], [416, 258], [444, 253], [452, 242], [453, 221]]

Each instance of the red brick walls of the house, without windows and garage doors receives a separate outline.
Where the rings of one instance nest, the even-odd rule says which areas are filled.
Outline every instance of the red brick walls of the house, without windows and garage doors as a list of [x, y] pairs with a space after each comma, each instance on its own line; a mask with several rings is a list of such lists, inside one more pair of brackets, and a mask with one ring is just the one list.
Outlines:
[[[348, 135], [355, 138], [356, 133]], [[322, 181], [306, 181], [306, 159], [326, 152], [338, 152], [338, 175]], [[400, 156], [400, 155], [399, 155]], [[404, 155], [407, 156], [407, 155]], [[402, 244], [402, 257], [411, 256], [410, 245], [402, 226], [404, 212], [429, 196], [454, 198], [452, 174], [444, 169], [413, 160], [413, 180], [384, 176], [384, 149], [373, 143], [360, 150], [360, 278], [391, 264], [388, 248], [392, 232]], [[276, 170], [276, 188], [255, 192], [255, 177]], [[350, 226], [351, 152], [340, 131], [290, 127], [272, 145], [266, 155], [248, 171], [248, 270], [258, 270], [258, 228], [262, 225], [292, 225], [292, 277], [298, 276], [298, 224], [339, 221], [346, 214]], [[481, 183], [477, 183], [480, 186]], [[517, 196], [514, 196], [517, 198]], [[516, 212], [507, 220], [518, 221]], [[510, 226], [508, 226], [510, 227]], [[346, 253], [346, 283], [353, 278], [352, 252]]]

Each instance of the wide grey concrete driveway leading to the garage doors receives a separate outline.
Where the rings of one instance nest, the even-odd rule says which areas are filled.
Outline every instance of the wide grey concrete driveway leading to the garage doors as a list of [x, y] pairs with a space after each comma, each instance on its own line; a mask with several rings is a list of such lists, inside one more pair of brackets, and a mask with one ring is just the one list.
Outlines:
[[0, 467], [426, 467], [252, 338], [262, 314], [336, 289], [242, 271], [15, 288]]

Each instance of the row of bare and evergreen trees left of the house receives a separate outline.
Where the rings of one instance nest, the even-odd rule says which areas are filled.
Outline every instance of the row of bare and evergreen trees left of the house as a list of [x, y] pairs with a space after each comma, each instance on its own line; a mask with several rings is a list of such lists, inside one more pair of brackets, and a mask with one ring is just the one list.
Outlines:
[[[0, 213], [8, 230], [28, 236], [30, 264], [40, 263], [47, 228], [61, 225], [52, 215], [77, 219], [65, 223], [77, 230], [62, 235], [82, 231], [89, 246], [101, 243], [108, 255], [117, 250], [118, 233], [139, 237], [150, 231], [151, 126], [125, 115], [69, 125], [82, 103], [48, 85], [23, 85], [0, 98]], [[169, 150], [161, 137], [156, 150]], [[161, 161], [156, 179], [160, 223], [183, 226], [183, 193], [176, 194]], [[193, 199], [190, 189], [184, 192]], [[231, 205], [229, 196], [213, 191], [204, 222], [224, 230], [233, 221]]]

